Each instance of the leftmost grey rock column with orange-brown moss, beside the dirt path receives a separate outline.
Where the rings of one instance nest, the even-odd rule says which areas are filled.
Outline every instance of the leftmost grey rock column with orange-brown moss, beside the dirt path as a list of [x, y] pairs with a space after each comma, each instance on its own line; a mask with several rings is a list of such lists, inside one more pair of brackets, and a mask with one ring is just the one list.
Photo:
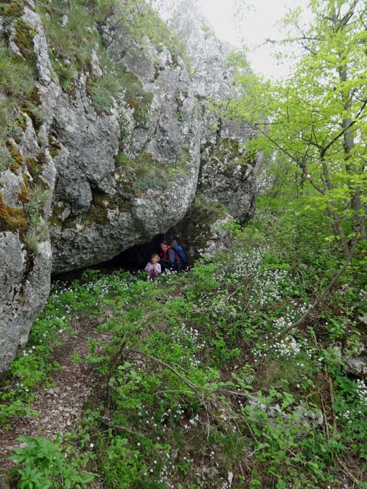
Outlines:
[[[44, 94], [55, 93], [41, 20], [31, 5], [24, 6], [20, 18], [22, 27], [32, 29], [38, 87], [42, 85]], [[17, 39], [12, 19], [1, 26], [10, 51], [22, 56], [24, 45]], [[10, 164], [1, 166], [0, 172], [0, 371], [27, 342], [34, 317], [48, 297], [52, 267], [47, 222], [56, 170], [49, 148], [43, 144], [48, 123], [36, 133], [27, 113], [20, 112], [17, 122], [6, 141]]]

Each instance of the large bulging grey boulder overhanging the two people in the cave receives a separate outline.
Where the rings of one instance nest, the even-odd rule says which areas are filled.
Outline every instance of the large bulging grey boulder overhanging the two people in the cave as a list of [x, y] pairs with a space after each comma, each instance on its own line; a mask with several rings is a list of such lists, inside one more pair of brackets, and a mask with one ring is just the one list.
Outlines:
[[[184, 62], [173, 63], [167, 49], [159, 53], [147, 39], [143, 49], [119, 29], [109, 52], [141, 94], [151, 94], [150, 103], [143, 119], [134, 119], [123, 97], [99, 114], [82, 77], [72, 101], [59, 98], [52, 131], [66, 158], [55, 159], [54, 272], [100, 263], [164, 233], [195, 195], [201, 122]], [[123, 142], [122, 117], [129, 128]]]

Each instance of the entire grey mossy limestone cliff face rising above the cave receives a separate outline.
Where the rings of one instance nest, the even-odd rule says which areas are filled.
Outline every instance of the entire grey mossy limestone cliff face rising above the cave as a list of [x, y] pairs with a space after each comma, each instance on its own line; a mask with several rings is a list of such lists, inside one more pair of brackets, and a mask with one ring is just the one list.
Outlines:
[[[34, 72], [33, 112], [19, 101], [15, 129], [0, 140], [8, 155], [0, 166], [0, 371], [27, 341], [51, 272], [101, 263], [166, 233], [195, 196], [192, 214], [219, 209], [208, 210], [215, 217], [201, 251], [215, 246], [216, 221], [254, 211], [254, 159], [240, 149], [249, 135], [204, 103], [231, 92], [229, 48], [187, 3], [174, 27], [187, 68], [168, 41], [127, 31], [124, 4], [111, 3], [103, 23], [88, 27], [95, 39], [98, 24], [99, 45], [79, 71], [50, 47], [31, 0], [0, 7], [6, 50]], [[52, 20], [47, 10], [44, 20]], [[57, 29], [69, 22], [63, 15]], [[106, 95], [111, 77], [120, 88]], [[0, 103], [7, 96], [0, 86]]]

